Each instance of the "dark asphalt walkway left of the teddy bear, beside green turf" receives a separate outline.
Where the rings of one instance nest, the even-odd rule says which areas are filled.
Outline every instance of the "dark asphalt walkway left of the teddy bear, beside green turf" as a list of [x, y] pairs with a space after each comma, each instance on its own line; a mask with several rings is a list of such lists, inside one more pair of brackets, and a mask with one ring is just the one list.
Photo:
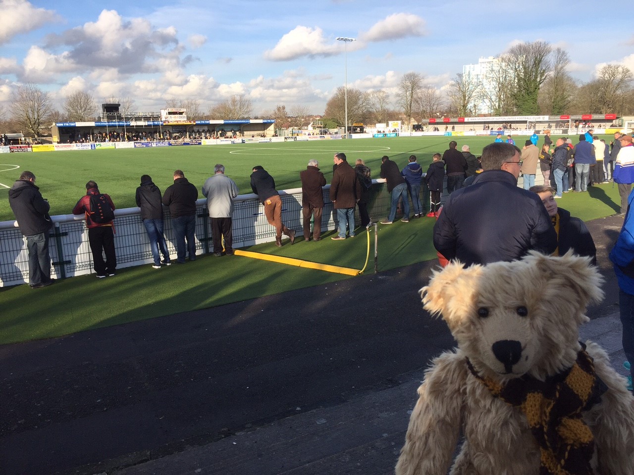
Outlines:
[[[593, 319], [618, 309], [607, 252], [622, 223], [588, 223], [606, 293]], [[0, 346], [0, 473], [194, 473], [196, 450], [213, 457], [217, 471], [205, 473], [352, 473], [354, 454], [367, 460], [377, 444], [395, 456], [422, 369], [453, 346], [417, 294], [434, 265]], [[237, 436], [250, 448], [268, 441], [275, 457], [247, 457]], [[319, 447], [330, 455], [316, 457]], [[279, 466], [302, 454], [297, 471]]]

